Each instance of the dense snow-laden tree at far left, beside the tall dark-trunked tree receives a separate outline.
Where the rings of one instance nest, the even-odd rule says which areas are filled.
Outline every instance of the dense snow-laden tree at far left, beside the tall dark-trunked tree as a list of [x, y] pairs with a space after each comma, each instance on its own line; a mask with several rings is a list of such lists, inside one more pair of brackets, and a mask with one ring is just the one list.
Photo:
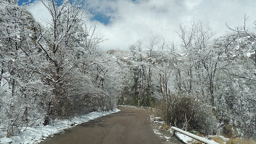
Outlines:
[[32, 15], [16, 1], [1, 1], [0, 6], [0, 117], [9, 137], [36, 121], [40, 109], [35, 101], [43, 87], [38, 69], [44, 61], [38, 60]]

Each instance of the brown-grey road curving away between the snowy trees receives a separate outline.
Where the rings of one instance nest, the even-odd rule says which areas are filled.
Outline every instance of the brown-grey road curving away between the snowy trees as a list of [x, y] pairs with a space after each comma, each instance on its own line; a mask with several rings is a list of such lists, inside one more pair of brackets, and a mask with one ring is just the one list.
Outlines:
[[148, 119], [148, 109], [119, 107], [121, 111], [68, 129], [43, 144], [160, 144]]

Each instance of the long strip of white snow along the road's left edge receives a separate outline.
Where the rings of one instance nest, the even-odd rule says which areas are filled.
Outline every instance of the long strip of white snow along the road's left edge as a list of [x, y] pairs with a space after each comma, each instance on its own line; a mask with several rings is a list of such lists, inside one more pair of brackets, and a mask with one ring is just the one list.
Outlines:
[[115, 108], [114, 110], [107, 112], [91, 112], [84, 116], [77, 116], [69, 120], [56, 120], [55, 123], [46, 126], [39, 125], [37, 127], [27, 127], [27, 129], [21, 129], [20, 134], [17, 134], [10, 138], [0, 138], [0, 143], [33, 144], [36, 142], [41, 142], [47, 139], [46, 137], [49, 137], [58, 132], [62, 132], [66, 128], [70, 128], [78, 124], [93, 120], [95, 118], [106, 116], [119, 111], [119, 109]]

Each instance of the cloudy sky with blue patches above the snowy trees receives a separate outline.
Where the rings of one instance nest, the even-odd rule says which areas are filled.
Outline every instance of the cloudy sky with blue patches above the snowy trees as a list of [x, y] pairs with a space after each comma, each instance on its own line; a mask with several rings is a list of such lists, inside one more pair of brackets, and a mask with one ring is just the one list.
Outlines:
[[[36, 19], [49, 17], [39, 0], [33, 3], [29, 11]], [[173, 31], [181, 20], [210, 22], [217, 31], [215, 37], [228, 30], [225, 22], [232, 28], [243, 25], [245, 13], [251, 29], [256, 20], [255, 0], [84, 0], [84, 4], [95, 15], [90, 22], [100, 23], [98, 30], [108, 39], [101, 45], [106, 50], [128, 50], [129, 44], [147, 40], [152, 34], [160, 37], [159, 42], [162, 36], [177, 42], [179, 37]]]

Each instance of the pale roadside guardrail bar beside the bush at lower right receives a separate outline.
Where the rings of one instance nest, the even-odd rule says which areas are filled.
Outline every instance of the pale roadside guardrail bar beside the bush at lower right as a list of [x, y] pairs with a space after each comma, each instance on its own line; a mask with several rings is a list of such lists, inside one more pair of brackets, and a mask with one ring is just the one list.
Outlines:
[[197, 136], [195, 134], [192, 134], [190, 132], [183, 131], [183, 130], [181, 130], [177, 127], [174, 127], [174, 126], [172, 126], [171, 129], [172, 129], [172, 136], [174, 136], [174, 133], [177, 131], [177, 132], [185, 134], [186, 136], [189, 136], [190, 138], [193, 138], [195, 140], [203, 142], [205, 144], [219, 144], [219, 143], [215, 142], [214, 140], [207, 140], [205, 138], [199, 137], [199, 136]]

